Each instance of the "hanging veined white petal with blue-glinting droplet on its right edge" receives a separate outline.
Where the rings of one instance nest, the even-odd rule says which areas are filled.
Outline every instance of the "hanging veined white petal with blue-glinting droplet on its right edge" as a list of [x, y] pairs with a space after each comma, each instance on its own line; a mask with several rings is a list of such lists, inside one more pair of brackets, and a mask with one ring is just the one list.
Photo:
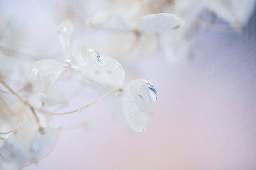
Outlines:
[[153, 116], [157, 91], [147, 79], [132, 80], [124, 89], [123, 111], [131, 128], [137, 132], [145, 131]]

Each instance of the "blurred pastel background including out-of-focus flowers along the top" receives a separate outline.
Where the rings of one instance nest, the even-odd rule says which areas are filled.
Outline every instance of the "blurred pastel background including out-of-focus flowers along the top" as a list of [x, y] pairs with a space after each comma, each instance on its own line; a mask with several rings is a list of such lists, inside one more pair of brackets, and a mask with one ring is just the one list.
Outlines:
[[[130, 129], [115, 95], [76, 114], [54, 116], [50, 125], [61, 127], [58, 140], [24, 170], [255, 169], [255, 2], [241, 1], [243, 10], [241, 4], [241, 11], [232, 9], [241, 12], [241, 20], [226, 14], [233, 7], [229, 1], [206, 2], [0, 1], [0, 52], [15, 70], [9, 82], [25, 85], [26, 71], [38, 59], [63, 61], [54, 29], [71, 19], [73, 44], [117, 59], [125, 85], [144, 77], [158, 91], [146, 133]], [[122, 21], [91, 19], [99, 12], [111, 17], [115, 12]], [[160, 12], [177, 15], [184, 26], [138, 36], [120, 24], [133, 28], [137, 18]], [[106, 93], [69, 71], [56, 84], [65, 98], [55, 111], [79, 108]]]

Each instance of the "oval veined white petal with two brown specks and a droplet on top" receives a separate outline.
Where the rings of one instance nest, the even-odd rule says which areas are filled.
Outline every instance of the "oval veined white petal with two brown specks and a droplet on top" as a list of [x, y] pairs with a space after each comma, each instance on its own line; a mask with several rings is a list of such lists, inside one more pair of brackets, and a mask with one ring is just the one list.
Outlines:
[[114, 58], [84, 47], [77, 47], [73, 58], [83, 70], [86, 80], [103, 86], [122, 86], [125, 77], [124, 70]]

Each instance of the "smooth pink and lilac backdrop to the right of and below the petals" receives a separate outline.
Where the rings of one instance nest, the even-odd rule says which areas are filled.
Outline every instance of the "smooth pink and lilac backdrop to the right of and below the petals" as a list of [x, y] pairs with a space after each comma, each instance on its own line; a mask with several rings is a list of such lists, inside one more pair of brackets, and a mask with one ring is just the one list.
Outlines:
[[[13, 6], [9, 9], [21, 10]], [[38, 16], [32, 8], [26, 10]], [[55, 116], [51, 124], [63, 126], [55, 147], [24, 170], [256, 169], [255, 27], [253, 15], [241, 33], [198, 31], [189, 59], [178, 63], [166, 61], [161, 49], [120, 60], [126, 84], [146, 77], [158, 90], [147, 132], [132, 131], [120, 99], [108, 97], [81, 113]], [[69, 91], [75, 86], [75, 81], [62, 85]], [[64, 110], [104, 94], [84, 88]]]

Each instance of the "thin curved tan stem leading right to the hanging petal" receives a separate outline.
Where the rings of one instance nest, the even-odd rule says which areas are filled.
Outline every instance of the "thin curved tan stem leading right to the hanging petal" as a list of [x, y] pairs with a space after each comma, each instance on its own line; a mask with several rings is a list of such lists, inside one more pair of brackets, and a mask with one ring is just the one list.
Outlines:
[[46, 110], [42, 110], [42, 109], [38, 109], [38, 110], [39, 110], [40, 112], [42, 112], [42, 113], [45, 113], [45, 114], [52, 114], [52, 115], [71, 114], [71, 113], [75, 113], [75, 112], [77, 112], [77, 111], [81, 111], [82, 109], [85, 109], [85, 108], [91, 106], [92, 104], [97, 103], [98, 101], [102, 100], [103, 98], [105, 98], [105, 97], [107, 97], [107, 96], [109, 96], [109, 95], [112, 95], [112, 94], [114, 94], [114, 93], [116, 93], [116, 92], [121, 92], [121, 91], [123, 91], [123, 90], [122, 90], [122, 89], [117, 89], [117, 90], [114, 90], [114, 91], [112, 91], [112, 92], [106, 93], [105, 95], [101, 96], [100, 98], [98, 98], [97, 100], [91, 102], [90, 104], [87, 104], [87, 105], [85, 105], [85, 106], [83, 106], [83, 107], [81, 107], [81, 108], [78, 108], [78, 109], [75, 109], [75, 110], [72, 110], [72, 111], [69, 111], [69, 112], [54, 113], [54, 112], [50, 112], [50, 111], [46, 111]]

